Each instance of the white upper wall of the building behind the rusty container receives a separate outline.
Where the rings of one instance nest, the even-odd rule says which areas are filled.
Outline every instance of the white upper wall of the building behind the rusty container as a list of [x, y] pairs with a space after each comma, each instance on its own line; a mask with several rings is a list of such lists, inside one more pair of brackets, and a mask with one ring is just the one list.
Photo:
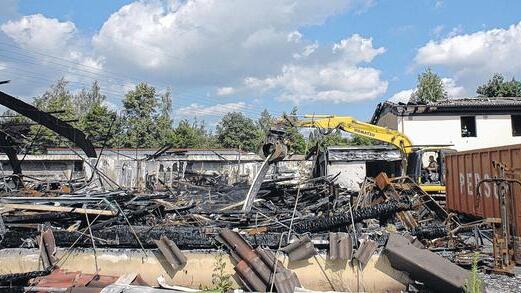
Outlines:
[[415, 145], [453, 145], [463, 151], [521, 143], [512, 136], [510, 115], [476, 115], [476, 137], [461, 137], [460, 116], [398, 117], [398, 130]]

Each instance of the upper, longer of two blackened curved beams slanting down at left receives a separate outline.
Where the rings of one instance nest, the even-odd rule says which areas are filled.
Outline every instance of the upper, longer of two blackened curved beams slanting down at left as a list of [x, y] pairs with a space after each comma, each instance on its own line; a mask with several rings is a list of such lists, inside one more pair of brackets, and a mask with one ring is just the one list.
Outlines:
[[69, 139], [79, 146], [87, 157], [96, 157], [96, 150], [92, 143], [87, 140], [85, 134], [67, 122], [1, 91], [0, 104]]

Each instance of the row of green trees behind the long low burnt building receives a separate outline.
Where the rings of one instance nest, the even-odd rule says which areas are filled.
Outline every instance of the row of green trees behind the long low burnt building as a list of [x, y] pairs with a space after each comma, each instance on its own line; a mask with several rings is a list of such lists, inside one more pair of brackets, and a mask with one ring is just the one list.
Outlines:
[[[210, 129], [204, 120], [172, 119], [172, 93], [159, 92], [147, 83], [140, 83], [122, 98], [122, 108], [116, 111], [106, 103], [100, 84], [95, 81], [88, 88], [72, 92], [69, 82], [59, 79], [41, 96], [33, 99], [33, 105], [82, 130], [96, 147], [108, 148], [231, 148], [258, 152], [275, 117], [264, 109], [258, 119], [240, 112], [230, 112]], [[297, 108], [287, 113], [297, 114]], [[11, 111], [3, 114], [3, 128], [15, 127], [21, 140], [22, 152], [46, 153], [50, 147], [67, 147], [68, 141], [53, 131], [31, 123]], [[316, 144], [319, 133], [305, 138], [297, 128], [289, 127], [289, 144], [292, 152], [304, 154], [306, 148]], [[363, 138], [343, 137], [335, 131], [324, 140], [323, 146], [370, 144]]]

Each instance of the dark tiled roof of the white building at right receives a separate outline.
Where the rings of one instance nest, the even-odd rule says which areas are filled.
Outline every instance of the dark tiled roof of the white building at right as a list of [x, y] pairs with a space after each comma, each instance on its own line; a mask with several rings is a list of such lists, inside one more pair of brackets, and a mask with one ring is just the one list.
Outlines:
[[479, 115], [479, 114], [511, 114], [521, 113], [521, 97], [475, 97], [460, 99], [445, 99], [434, 103], [393, 103], [383, 102], [378, 104], [371, 118], [371, 123], [376, 124], [380, 116], [392, 112], [398, 116], [410, 115]]

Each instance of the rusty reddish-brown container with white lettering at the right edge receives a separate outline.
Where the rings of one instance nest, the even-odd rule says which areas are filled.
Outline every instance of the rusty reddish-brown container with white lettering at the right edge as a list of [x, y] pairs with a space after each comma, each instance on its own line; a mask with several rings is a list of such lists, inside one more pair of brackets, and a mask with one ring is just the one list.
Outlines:
[[[481, 184], [480, 197], [476, 190], [482, 179], [497, 175], [493, 161], [502, 162], [514, 171], [513, 174], [507, 174], [507, 178], [521, 179], [521, 144], [457, 152], [446, 156], [447, 209], [482, 218], [501, 217], [495, 184]], [[512, 186], [512, 221], [516, 227], [513, 234], [518, 238], [521, 237], [521, 187], [518, 184]]]

